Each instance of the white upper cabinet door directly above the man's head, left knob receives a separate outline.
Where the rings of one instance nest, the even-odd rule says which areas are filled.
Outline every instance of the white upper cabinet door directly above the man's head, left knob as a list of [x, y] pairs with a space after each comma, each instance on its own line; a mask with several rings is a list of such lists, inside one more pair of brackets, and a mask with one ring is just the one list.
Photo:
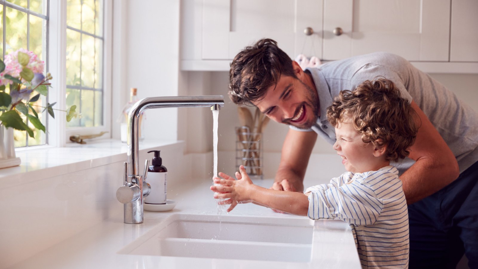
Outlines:
[[[261, 38], [277, 41], [292, 59], [322, 53], [321, 0], [204, 0], [202, 59], [233, 59]], [[310, 27], [315, 34], [305, 35]]]

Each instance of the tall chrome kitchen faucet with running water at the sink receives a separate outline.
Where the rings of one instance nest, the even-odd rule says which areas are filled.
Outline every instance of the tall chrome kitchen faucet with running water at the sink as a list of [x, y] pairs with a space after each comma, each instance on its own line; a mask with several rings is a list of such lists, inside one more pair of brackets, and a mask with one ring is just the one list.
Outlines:
[[143, 175], [138, 173], [138, 123], [141, 113], [150, 108], [210, 107], [211, 110], [219, 110], [221, 106], [224, 106], [222, 95], [148, 97], [133, 105], [127, 123], [128, 162], [124, 163], [124, 185], [116, 191], [116, 198], [124, 203], [124, 223], [143, 222], [143, 198], [151, 191], [146, 183], [149, 160], [144, 164]]

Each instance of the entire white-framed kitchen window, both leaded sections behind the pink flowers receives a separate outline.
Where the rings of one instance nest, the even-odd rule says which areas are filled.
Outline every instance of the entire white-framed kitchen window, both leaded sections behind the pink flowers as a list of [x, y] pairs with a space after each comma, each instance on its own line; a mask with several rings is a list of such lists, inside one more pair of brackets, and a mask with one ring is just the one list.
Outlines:
[[[25, 48], [53, 76], [48, 96], [35, 107], [47, 132], [25, 119], [35, 137], [15, 130], [19, 150], [64, 146], [73, 134], [110, 131], [112, 6], [112, 0], [0, 0], [2, 59]], [[41, 106], [54, 102], [52, 118]], [[71, 105], [80, 116], [66, 122]]]

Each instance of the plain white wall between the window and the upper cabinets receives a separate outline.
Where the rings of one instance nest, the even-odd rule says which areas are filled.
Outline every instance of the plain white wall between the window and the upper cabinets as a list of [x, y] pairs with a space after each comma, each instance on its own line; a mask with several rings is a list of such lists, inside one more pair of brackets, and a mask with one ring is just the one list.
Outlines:
[[[112, 137], [119, 138], [116, 118], [131, 87], [138, 88], [139, 99], [178, 95], [179, 1], [114, 1], [113, 5]], [[152, 109], [145, 114], [144, 138], [177, 140], [177, 109]]]

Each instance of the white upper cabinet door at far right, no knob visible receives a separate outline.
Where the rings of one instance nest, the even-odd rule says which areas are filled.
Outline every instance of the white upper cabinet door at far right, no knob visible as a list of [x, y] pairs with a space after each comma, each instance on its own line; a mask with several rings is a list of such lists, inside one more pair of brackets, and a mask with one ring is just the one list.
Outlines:
[[478, 61], [478, 1], [453, 0], [450, 61]]

